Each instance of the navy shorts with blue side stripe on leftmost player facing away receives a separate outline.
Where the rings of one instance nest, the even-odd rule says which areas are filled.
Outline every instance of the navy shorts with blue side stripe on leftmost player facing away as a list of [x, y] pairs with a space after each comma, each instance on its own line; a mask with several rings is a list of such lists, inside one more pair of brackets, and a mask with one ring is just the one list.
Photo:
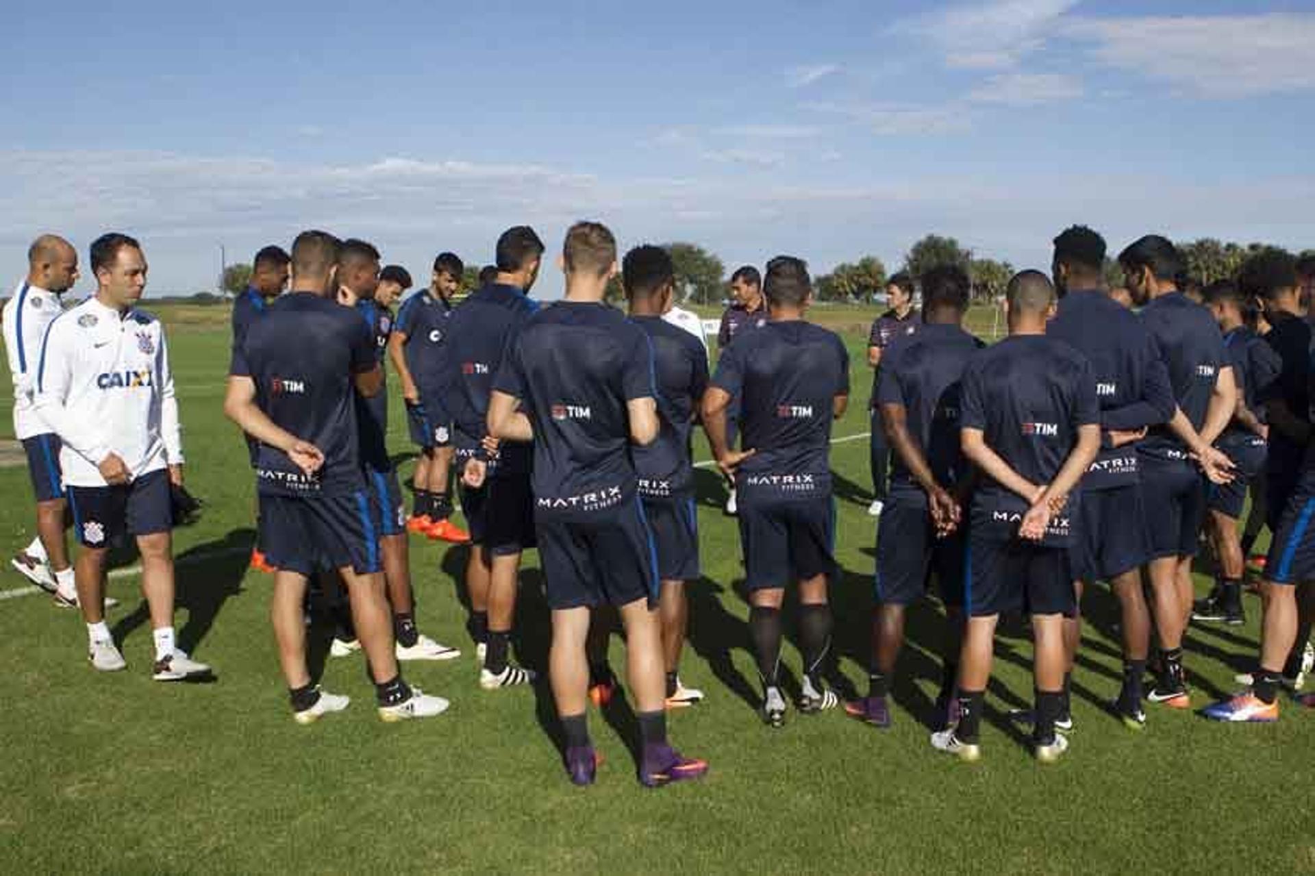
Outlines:
[[275, 568], [314, 575], [381, 571], [379, 530], [366, 491], [347, 496], [260, 496], [260, 546]]

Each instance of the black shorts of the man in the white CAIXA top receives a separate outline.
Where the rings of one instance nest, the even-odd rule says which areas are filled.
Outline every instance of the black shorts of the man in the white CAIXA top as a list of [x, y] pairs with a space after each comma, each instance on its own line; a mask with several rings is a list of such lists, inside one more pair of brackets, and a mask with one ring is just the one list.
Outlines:
[[163, 468], [121, 487], [70, 487], [78, 542], [109, 547], [121, 535], [153, 535], [174, 529], [174, 501]]

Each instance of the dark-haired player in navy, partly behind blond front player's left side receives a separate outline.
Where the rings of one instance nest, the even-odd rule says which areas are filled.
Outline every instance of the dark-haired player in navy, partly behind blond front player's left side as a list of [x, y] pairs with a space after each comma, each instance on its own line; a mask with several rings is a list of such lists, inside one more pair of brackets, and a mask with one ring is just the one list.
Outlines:
[[534, 547], [531, 450], [526, 443], [498, 446], [488, 433], [488, 404], [508, 346], [538, 310], [527, 293], [539, 275], [543, 241], [519, 225], [502, 233], [496, 256], [494, 281], [452, 312], [443, 353], [462, 510], [471, 527], [466, 566], [471, 634], [485, 691], [526, 685], [535, 677], [509, 659], [521, 552]]

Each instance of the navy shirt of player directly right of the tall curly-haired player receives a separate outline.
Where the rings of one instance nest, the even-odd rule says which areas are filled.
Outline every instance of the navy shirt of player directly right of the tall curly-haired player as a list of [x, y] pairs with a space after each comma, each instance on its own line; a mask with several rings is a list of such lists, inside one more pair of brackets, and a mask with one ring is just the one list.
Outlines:
[[[1228, 367], [1219, 324], [1182, 292], [1169, 292], [1141, 308], [1141, 325], [1160, 350], [1178, 408], [1201, 431], [1219, 370]], [[1187, 459], [1187, 449], [1168, 426], [1151, 429], [1137, 451], [1159, 459]]]

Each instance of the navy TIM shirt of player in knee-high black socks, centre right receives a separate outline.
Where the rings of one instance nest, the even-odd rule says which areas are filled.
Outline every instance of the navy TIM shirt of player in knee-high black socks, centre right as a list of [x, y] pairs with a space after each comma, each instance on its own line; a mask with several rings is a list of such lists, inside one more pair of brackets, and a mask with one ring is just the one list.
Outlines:
[[713, 385], [740, 399], [740, 434], [753, 455], [735, 475], [739, 501], [831, 495], [832, 404], [849, 395], [849, 354], [834, 331], [769, 321], [717, 362]]

